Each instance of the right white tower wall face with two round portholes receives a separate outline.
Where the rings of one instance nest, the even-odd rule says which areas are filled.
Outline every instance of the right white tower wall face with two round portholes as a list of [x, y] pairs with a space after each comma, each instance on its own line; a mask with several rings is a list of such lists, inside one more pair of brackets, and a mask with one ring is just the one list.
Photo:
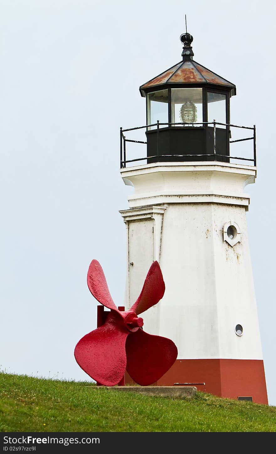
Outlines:
[[[212, 207], [220, 357], [262, 359], [246, 213], [233, 205], [221, 208]], [[221, 241], [226, 215], [241, 229], [241, 242], [233, 247]], [[234, 332], [237, 324], [244, 330], [241, 337]]]

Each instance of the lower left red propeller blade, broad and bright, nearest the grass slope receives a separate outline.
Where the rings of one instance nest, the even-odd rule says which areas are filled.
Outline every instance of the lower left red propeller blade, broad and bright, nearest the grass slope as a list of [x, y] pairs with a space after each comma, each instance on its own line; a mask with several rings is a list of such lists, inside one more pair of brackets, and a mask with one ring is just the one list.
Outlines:
[[130, 331], [120, 326], [113, 311], [107, 321], [78, 341], [74, 355], [77, 364], [93, 380], [114, 386], [126, 371], [126, 338]]

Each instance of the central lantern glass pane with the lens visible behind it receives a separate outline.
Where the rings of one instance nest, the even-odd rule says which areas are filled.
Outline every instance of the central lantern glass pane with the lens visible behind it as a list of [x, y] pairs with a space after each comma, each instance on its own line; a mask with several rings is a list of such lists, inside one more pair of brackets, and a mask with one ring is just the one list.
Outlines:
[[[194, 123], [201, 123], [202, 88], [172, 89], [171, 110], [172, 123], [188, 123], [186, 126], [191, 126], [190, 123], [192, 123], [192, 125], [194, 125]], [[202, 126], [202, 124], [195, 124], [194, 126]]]

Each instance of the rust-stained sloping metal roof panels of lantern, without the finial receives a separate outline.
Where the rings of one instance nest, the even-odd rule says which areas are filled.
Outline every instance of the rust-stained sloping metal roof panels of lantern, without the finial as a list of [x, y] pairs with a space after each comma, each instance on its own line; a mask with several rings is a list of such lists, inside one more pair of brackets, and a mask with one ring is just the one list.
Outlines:
[[213, 73], [213, 71], [196, 61], [187, 59], [175, 64], [164, 73], [141, 85], [140, 93], [145, 96], [145, 91], [149, 91], [148, 89], [151, 87], [166, 84], [212, 84], [236, 90], [236, 86], [228, 80], [223, 79], [223, 77]]

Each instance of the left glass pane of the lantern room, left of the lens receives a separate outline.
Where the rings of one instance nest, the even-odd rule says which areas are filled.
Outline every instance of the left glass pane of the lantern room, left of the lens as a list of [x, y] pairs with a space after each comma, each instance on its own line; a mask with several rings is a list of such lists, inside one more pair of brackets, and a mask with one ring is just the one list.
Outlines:
[[[168, 90], [159, 90], [147, 94], [147, 124], [168, 123]], [[160, 128], [168, 127], [168, 125], [160, 126]], [[152, 126], [148, 129], [156, 129], [157, 126]]]

